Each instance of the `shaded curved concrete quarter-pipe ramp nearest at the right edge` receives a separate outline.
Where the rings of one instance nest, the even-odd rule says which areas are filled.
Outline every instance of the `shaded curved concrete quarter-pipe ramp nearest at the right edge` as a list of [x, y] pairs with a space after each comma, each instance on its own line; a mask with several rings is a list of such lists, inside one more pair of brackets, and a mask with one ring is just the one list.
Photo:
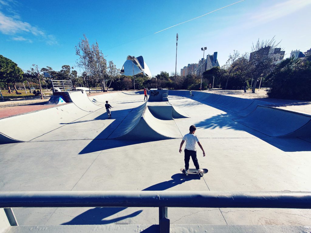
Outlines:
[[270, 137], [311, 136], [311, 116], [258, 105], [247, 116], [235, 121]]

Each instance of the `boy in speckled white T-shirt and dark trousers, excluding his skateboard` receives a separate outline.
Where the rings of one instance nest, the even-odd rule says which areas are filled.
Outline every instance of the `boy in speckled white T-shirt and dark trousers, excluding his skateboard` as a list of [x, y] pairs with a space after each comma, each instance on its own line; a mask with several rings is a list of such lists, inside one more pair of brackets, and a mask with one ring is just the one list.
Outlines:
[[200, 169], [199, 163], [197, 162], [197, 149], [195, 148], [195, 143], [197, 142], [197, 144], [203, 151], [203, 156], [205, 156], [205, 152], [204, 152], [202, 145], [200, 144], [199, 138], [197, 137], [197, 135], [194, 135], [196, 130], [197, 128], [195, 126], [190, 126], [189, 133], [183, 136], [183, 140], [180, 143], [179, 153], [182, 152], [181, 147], [183, 146], [183, 143], [186, 141], [186, 146], [184, 150], [185, 151], [185, 173], [186, 174], [188, 174], [190, 156], [192, 158], [195, 168], [197, 169], [197, 173], [200, 173], [203, 171], [202, 169]]

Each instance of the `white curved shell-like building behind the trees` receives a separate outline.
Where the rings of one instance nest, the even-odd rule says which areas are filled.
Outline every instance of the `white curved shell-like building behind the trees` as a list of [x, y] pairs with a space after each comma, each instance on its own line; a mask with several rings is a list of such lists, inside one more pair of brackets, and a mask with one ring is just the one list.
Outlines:
[[151, 77], [149, 67], [142, 56], [133, 57], [128, 55], [121, 72], [126, 76], [133, 76], [142, 73], [143, 75]]

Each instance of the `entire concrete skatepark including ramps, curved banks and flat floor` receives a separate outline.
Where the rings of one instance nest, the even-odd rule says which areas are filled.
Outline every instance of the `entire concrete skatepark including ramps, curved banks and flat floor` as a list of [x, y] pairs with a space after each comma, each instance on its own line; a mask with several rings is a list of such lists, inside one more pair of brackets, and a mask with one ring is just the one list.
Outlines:
[[[163, 102], [144, 102], [141, 91], [53, 98], [47, 109], [0, 119], [1, 192], [311, 191], [309, 114], [199, 91], [169, 91]], [[197, 146], [203, 177], [180, 172], [179, 144], [191, 125], [206, 153]], [[13, 211], [20, 228], [8, 232], [154, 232], [159, 223], [156, 207]], [[172, 207], [168, 218], [171, 232], [311, 231], [308, 208]]]

